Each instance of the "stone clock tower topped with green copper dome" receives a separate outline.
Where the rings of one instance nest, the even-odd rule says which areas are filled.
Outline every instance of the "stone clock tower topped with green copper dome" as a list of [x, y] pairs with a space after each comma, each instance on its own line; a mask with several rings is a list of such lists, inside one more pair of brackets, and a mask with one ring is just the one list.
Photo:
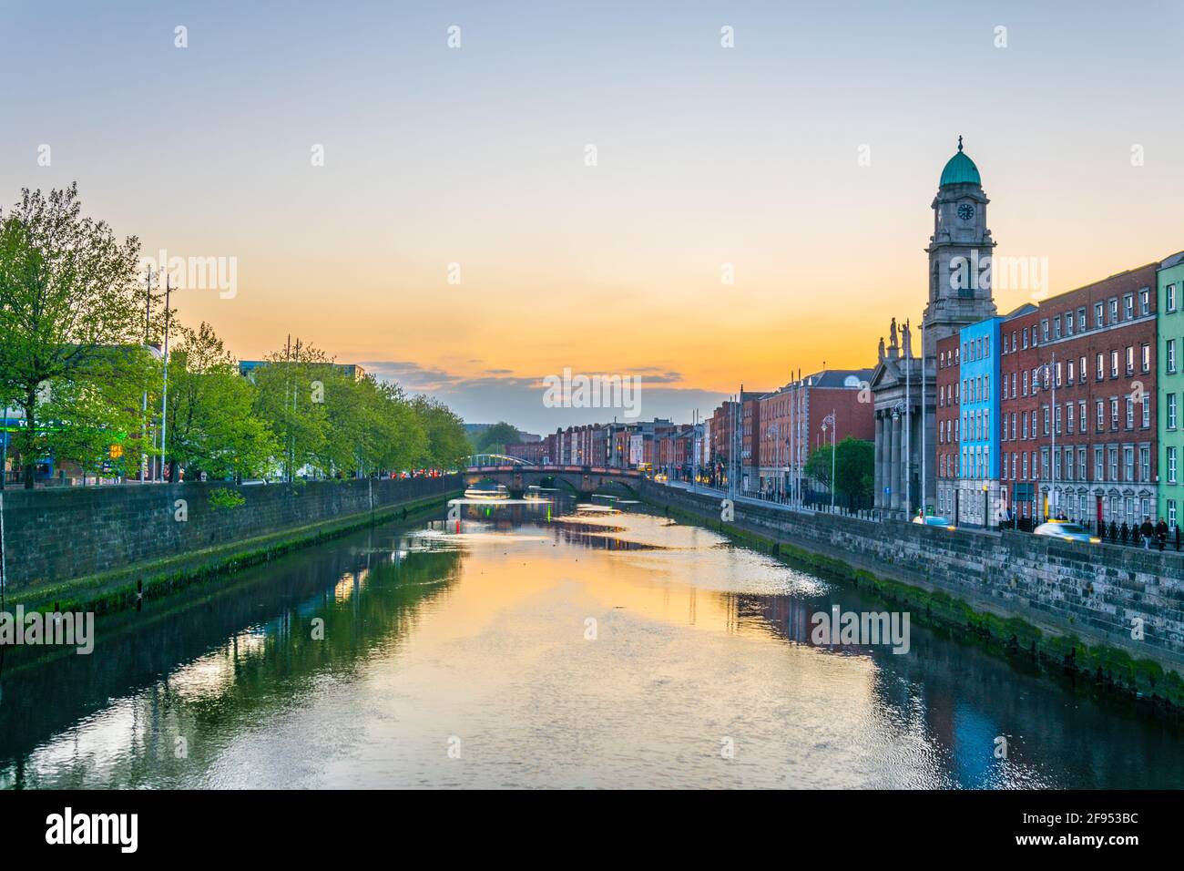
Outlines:
[[937, 357], [938, 340], [996, 314], [991, 293], [995, 239], [986, 228], [986, 204], [978, 167], [963, 150], [946, 162], [933, 199], [929, 246], [929, 302], [922, 315], [925, 358]]

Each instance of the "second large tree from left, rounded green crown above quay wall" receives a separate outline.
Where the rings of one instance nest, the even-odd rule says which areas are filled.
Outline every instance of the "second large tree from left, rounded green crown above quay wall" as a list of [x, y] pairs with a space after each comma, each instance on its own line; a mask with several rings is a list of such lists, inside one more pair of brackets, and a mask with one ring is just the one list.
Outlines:
[[213, 328], [179, 327], [180, 342], [168, 360], [169, 480], [176, 467], [212, 478], [244, 478], [268, 468], [279, 442], [255, 416], [251, 383]]

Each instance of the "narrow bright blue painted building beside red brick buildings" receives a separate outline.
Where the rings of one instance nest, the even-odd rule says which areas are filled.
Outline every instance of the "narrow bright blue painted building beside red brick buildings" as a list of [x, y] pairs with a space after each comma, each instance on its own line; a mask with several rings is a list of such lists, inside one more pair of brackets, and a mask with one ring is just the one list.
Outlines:
[[999, 513], [999, 325], [963, 327], [959, 390], [957, 517], [964, 526], [997, 526]]

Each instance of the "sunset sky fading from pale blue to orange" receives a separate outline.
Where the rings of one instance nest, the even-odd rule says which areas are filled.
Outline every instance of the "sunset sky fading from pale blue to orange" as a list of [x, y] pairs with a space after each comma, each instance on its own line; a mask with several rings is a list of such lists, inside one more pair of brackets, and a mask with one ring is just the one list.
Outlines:
[[472, 422], [610, 417], [543, 408], [565, 367], [689, 421], [873, 365], [959, 134], [1053, 293], [1184, 249], [1179, 2], [54, 6], [0, 2], [0, 203], [77, 180], [146, 254], [237, 258], [175, 300], [240, 358], [291, 333]]

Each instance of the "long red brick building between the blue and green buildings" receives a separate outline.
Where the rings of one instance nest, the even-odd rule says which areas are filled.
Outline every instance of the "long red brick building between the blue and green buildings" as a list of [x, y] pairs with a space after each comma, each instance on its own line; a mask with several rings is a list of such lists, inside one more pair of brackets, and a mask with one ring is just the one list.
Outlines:
[[1154, 513], [1157, 265], [1004, 322], [1000, 476], [1019, 517], [1137, 525]]

